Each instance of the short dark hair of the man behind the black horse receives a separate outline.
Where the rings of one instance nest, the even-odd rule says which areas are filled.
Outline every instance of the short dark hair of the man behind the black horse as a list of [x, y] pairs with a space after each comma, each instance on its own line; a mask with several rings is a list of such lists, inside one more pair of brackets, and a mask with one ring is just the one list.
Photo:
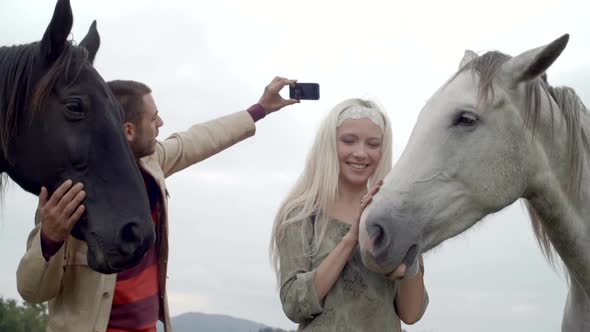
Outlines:
[[123, 106], [125, 122], [139, 124], [143, 113], [143, 96], [152, 92], [147, 85], [136, 81], [115, 80], [107, 82], [115, 98]]

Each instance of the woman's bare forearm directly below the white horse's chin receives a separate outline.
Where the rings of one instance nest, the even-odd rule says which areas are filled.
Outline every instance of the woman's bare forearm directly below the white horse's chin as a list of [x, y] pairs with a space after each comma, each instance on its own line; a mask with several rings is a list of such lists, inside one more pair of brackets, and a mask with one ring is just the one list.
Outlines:
[[425, 292], [422, 272], [418, 272], [414, 277], [399, 281], [395, 307], [398, 316], [404, 323], [414, 324], [421, 318]]

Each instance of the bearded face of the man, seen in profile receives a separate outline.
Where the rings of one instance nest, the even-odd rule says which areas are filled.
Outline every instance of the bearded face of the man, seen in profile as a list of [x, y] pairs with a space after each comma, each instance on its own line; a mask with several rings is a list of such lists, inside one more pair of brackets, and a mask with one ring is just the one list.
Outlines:
[[142, 98], [143, 111], [131, 135], [128, 134], [129, 145], [136, 159], [149, 156], [155, 152], [158, 129], [164, 122], [158, 115], [154, 97], [146, 94]]

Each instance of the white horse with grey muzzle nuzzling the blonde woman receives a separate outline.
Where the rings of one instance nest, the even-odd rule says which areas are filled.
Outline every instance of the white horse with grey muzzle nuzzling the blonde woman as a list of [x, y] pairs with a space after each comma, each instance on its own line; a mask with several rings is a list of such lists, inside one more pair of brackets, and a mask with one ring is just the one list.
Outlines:
[[569, 275], [562, 331], [590, 331], [590, 115], [544, 74], [568, 39], [516, 57], [465, 52], [363, 214], [369, 268], [415, 273], [418, 254], [523, 198], [541, 249]]

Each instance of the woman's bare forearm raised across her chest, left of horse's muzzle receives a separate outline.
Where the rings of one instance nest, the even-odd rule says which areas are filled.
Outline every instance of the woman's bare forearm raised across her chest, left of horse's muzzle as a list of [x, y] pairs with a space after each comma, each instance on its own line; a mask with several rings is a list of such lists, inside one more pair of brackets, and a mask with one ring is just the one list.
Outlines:
[[342, 239], [340, 243], [330, 252], [330, 254], [320, 263], [316, 270], [314, 285], [320, 301], [322, 301], [332, 286], [338, 280], [338, 276], [348, 262], [356, 242], [347, 238]]

